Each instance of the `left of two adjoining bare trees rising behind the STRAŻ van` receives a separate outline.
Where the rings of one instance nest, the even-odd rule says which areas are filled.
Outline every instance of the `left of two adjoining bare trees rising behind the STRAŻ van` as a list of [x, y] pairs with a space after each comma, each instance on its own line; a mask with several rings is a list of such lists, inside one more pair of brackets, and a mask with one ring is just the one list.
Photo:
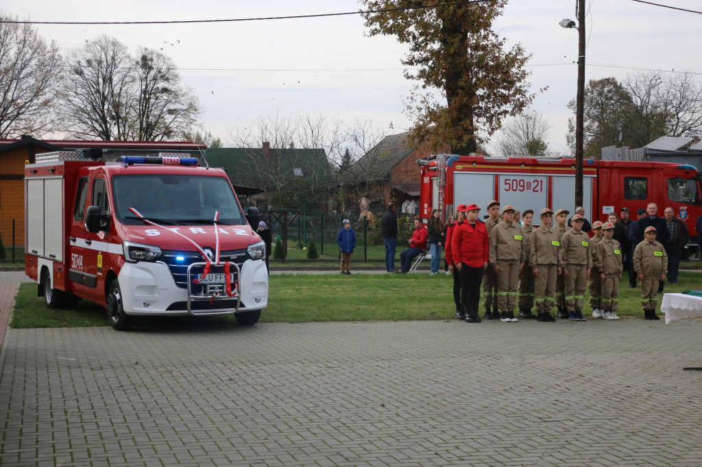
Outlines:
[[67, 59], [63, 108], [74, 137], [128, 140], [129, 105], [135, 99], [133, 60], [120, 41], [102, 35]]

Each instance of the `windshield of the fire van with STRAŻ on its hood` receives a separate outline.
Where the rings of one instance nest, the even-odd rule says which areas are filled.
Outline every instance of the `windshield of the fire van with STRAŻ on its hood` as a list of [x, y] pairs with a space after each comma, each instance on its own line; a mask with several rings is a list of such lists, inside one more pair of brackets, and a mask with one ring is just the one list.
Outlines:
[[241, 225], [246, 219], [229, 181], [223, 177], [192, 175], [116, 175], [112, 196], [122, 224], [144, 225], [129, 208], [164, 225]]

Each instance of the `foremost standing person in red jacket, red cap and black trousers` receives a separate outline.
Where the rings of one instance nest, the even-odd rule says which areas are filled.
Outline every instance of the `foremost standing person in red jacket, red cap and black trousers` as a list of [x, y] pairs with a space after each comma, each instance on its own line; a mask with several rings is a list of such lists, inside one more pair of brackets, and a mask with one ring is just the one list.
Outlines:
[[[463, 206], [460, 206], [463, 208]], [[480, 323], [478, 305], [483, 271], [489, 262], [487, 227], [479, 221], [480, 208], [465, 206], [465, 220], [451, 236], [451, 261], [461, 274], [461, 299], [467, 323]]]

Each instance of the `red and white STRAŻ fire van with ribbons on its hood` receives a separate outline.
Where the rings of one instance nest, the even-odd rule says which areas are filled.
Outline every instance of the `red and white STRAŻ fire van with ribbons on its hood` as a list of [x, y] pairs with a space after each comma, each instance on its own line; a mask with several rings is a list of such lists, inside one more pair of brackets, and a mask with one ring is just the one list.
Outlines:
[[48, 308], [86, 299], [112, 327], [136, 315], [234, 313], [258, 322], [268, 301], [265, 244], [223, 170], [178, 154], [119, 163], [76, 153], [25, 167], [25, 273]]

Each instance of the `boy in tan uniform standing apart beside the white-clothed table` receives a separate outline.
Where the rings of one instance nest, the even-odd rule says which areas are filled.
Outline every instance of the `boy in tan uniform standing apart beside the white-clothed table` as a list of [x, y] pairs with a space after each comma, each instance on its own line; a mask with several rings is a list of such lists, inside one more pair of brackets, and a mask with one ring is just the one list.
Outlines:
[[648, 226], [644, 231], [644, 241], [634, 250], [634, 269], [641, 281], [641, 306], [647, 320], [659, 320], [658, 283], [665, 280], [668, 273], [668, 255], [661, 243], [656, 241], [656, 227]]

